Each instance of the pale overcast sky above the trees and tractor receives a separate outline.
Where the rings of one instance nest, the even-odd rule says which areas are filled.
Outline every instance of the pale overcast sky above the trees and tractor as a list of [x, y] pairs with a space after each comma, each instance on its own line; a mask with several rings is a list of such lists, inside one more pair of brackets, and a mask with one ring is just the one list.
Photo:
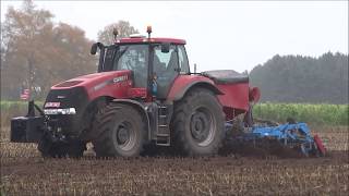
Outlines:
[[[242, 72], [274, 54], [318, 57], [348, 53], [348, 1], [34, 1], [56, 22], [81, 27], [96, 40], [97, 32], [118, 20], [129, 21], [153, 37], [186, 40], [191, 66], [200, 71]], [[1, 0], [1, 21], [9, 5]]]

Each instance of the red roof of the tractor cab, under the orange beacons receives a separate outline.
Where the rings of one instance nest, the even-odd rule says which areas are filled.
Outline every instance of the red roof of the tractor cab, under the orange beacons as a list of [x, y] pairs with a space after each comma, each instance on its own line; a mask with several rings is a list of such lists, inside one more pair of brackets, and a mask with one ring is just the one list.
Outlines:
[[146, 38], [142, 36], [137, 37], [125, 37], [117, 39], [116, 44], [144, 44], [144, 42], [170, 42], [174, 45], [185, 45], [184, 39], [176, 39], [176, 38]]

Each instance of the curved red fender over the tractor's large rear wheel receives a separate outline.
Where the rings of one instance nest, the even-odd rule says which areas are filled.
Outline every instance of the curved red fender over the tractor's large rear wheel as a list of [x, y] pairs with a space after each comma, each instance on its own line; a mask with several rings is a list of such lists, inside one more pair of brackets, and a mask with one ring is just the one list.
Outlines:
[[167, 101], [177, 101], [184, 97], [186, 91], [195, 87], [203, 87], [212, 90], [216, 95], [224, 95], [207, 77], [201, 75], [181, 75], [178, 76], [172, 84]]

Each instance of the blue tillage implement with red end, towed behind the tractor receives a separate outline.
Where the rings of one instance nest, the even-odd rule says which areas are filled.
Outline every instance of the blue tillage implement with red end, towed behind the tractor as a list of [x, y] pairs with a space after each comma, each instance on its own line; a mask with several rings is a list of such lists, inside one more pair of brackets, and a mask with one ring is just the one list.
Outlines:
[[232, 148], [252, 145], [255, 149], [262, 148], [270, 154], [290, 154], [289, 149], [292, 149], [304, 157], [321, 157], [326, 154], [321, 138], [312, 136], [306, 123], [260, 123], [239, 128], [239, 133], [236, 127], [233, 123], [226, 123], [227, 133], [234, 132], [227, 137], [227, 143]]

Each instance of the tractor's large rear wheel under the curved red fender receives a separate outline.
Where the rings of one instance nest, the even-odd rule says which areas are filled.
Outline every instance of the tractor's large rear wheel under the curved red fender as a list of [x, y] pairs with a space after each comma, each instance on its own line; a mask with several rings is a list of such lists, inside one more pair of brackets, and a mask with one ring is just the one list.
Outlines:
[[174, 148], [186, 156], [218, 152], [224, 137], [225, 114], [216, 96], [205, 88], [196, 88], [174, 105]]

